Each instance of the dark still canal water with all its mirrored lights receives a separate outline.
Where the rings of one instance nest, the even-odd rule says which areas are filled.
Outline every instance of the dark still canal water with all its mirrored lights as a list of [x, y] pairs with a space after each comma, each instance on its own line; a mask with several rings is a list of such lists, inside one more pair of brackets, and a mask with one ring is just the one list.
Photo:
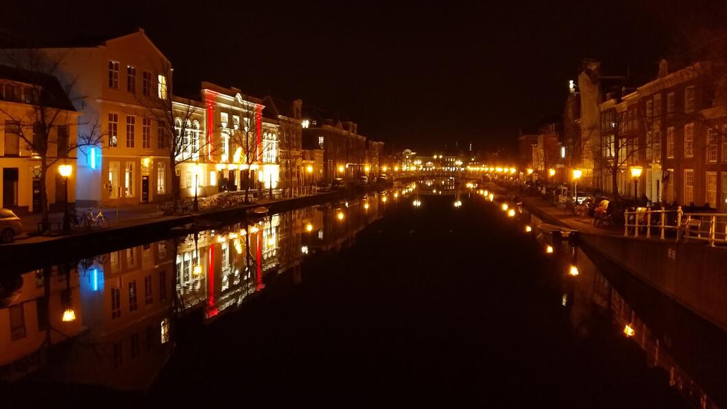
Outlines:
[[432, 182], [39, 255], [2, 280], [2, 407], [725, 405], [721, 330]]

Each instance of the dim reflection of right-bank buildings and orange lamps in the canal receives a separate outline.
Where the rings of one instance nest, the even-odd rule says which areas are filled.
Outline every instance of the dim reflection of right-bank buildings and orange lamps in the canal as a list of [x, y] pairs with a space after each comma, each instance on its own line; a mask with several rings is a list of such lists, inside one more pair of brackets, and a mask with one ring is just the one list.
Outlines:
[[568, 304], [571, 323], [577, 332], [585, 331], [594, 312], [606, 314], [622, 335], [632, 338], [646, 352], [650, 367], [658, 366], [669, 373], [670, 385], [678, 389], [695, 408], [717, 408], [704, 389], [672, 356], [669, 350], [670, 338], [654, 333], [582, 250], [576, 249], [573, 261], [577, 264], [579, 274], [577, 277], [568, 277], [570, 280], [566, 283], [566, 293], [561, 302], [563, 305]]

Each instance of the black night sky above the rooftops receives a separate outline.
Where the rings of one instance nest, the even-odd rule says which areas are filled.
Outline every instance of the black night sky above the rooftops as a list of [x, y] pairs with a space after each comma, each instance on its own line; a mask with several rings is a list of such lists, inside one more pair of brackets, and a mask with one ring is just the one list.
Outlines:
[[724, 1], [706, 0], [148, 3], [11, 0], [3, 8], [15, 17], [0, 28], [63, 38], [143, 27], [175, 82], [302, 98], [349, 116], [369, 138], [428, 150], [510, 143], [561, 114], [582, 57], [603, 61], [606, 74], [653, 76], [690, 24], [727, 21]]

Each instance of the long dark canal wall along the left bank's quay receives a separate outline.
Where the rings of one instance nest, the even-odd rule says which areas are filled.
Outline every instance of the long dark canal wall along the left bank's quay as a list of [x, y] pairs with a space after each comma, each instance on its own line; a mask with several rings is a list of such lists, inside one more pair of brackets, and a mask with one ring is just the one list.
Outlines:
[[276, 200], [263, 204], [247, 204], [241, 207], [211, 210], [190, 215], [153, 218], [148, 222], [112, 227], [105, 230], [92, 230], [83, 234], [43, 239], [36, 242], [18, 241], [0, 245], [0, 277], [6, 274], [17, 274], [42, 267], [41, 260], [52, 260], [55, 263], [72, 263], [81, 258], [108, 253], [129, 246], [143, 245], [185, 231], [175, 232], [172, 229], [190, 223], [234, 223], [244, 220], [246, 211], [252, 207], [264, 205], [270, 214], [293, 210], [344, 199], [348, 196], [375, 191], [379, 186], [367, 186], [356, 191], [331, 191], [312, 196], [301, 196], [292, 199]]

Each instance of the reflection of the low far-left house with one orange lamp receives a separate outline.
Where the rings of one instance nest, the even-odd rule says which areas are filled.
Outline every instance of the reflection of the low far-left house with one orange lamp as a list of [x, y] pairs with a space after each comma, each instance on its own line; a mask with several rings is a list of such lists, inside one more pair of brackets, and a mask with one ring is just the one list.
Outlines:
[[[66, 313], [64, 321], [69, 309], [75, 319]], [[53, 267], [0, 282], [0, 379], [41, 368], [48, 346], [79, 334], [82, 319], [76, 269]]]

